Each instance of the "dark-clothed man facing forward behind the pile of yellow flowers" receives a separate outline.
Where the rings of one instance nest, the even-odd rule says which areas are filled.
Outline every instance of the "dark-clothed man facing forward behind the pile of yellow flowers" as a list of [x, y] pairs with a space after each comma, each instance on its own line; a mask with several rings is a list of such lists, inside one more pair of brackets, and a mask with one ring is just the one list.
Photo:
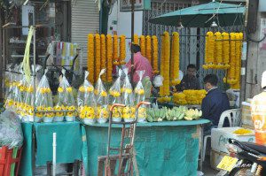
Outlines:
[[183, 91], [187, 89], [200, 89], [200, 82], [196, 77], [196, 72], [197, 69], [195, 65], [188, 65], [184, 78], [181, 80], [181, 83], [176, 87], [177, 90]]

